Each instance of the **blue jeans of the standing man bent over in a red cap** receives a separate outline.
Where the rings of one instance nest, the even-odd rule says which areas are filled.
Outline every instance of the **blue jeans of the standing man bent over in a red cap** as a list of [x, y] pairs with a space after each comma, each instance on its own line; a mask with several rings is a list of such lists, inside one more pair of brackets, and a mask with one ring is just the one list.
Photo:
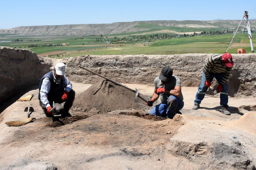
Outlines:
[[[221, 83], [221, 80], [222, 80], [223, 76], [224, 76], [224, 73], [218, 73], [217, 74], [217, 73], [210, 73], [209, 72], [209, 79], [210, 79], [211, 82], [213, 81], [213, 78], [215, 78], [218, 81], [218, 83]], [[201, 84], [198, 87], [197, 94], [195, 95], [195, 100], [194, 100], [195, 104], [200, 104], [201, 101], [203, 100], [203, 98], [205, 97], [206, 91], [208, 89], [208, 87], [206, 86], [205, 83], [206, 83], [206, 78], [205, 78], [205, 73], [204, 73], [204, 69], [203, 69]], [[227, 103], [229, 101], [229, 98], [228, 98], [227, 92], [228, 92], [228, 86], [227, 86], [227, 83], [225, 83], [222, 86], [222, 91], [221, 91], [221, 94], [220, 94], [220, 98], [221, 98], [220, 104], [221, 105], [226, 105], [228, 107]]]

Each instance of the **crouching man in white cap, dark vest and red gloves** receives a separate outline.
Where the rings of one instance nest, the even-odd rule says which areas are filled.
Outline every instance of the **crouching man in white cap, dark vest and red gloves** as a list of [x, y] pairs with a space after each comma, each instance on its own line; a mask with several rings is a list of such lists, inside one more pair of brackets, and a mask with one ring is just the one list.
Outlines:
[[[73, 105], [75, 91], [64, 73], [65, 64], [57, 63], [53, 71], [46, 73], [40, 80], [38, 99], [47, 117], [53, 116], [50, 111], [53, 107], [53, 101], [56, 104], [57, 114], [61, 114], [61, 117], [71, 116], [69, 109]], [[63, 102], [65, 102], [64, 108], [60, 104]]]

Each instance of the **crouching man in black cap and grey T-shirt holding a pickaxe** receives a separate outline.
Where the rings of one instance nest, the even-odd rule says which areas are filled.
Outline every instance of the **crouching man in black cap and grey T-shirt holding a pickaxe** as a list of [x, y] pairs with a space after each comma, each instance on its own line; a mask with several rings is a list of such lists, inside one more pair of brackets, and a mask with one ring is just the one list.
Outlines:
[[179, 77], [173, 76], [171, 67], [163, 67], [161, 74], [154, 80], [154, 86], [154, 94], [147, 105], [153, 106], [154, 101], [159, 97], [161, 103], [156, 105], [149, 114], [173, 118], [184, 106], [181, 80]]

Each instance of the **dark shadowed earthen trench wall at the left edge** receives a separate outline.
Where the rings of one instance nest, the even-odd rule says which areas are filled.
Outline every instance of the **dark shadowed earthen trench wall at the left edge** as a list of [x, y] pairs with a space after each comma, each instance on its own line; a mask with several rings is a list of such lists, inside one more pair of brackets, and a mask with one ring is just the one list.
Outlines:
[[51, 62], [30, 50], [0, 47], [0, 106], [23, 88], [39, 84], [42, 75], [50, 70]]

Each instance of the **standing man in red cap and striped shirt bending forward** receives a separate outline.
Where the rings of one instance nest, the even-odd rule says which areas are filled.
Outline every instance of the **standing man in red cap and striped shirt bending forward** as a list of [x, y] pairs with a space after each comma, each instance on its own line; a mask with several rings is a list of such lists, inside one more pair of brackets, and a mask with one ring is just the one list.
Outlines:
[[201, 84], [198, 87], [197, 94], [195, 95], [194, 103], [192, 109], [197, 110], [200, 108], [200, 103], [205, 97], [207, 89], [211, 86], [213, 78], [215, 78], [219, 85], [217, 87], [217, 92], [220, 92], [220, 105], [222, 113], [230, 115], [228, 111], [228, 86], [227, 80], [229, 79], [231, 70], [233, 69], [233, 60], [230, 53], [225, 54], [213, 54], [211, 55], [205, 63], [203, 68], [203, 75]]

